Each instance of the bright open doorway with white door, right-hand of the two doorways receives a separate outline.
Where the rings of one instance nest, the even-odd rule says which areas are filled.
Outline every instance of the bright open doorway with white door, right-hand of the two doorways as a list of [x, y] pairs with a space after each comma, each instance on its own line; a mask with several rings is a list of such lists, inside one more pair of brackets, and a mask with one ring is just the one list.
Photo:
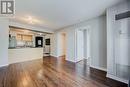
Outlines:
[[[87, 59], [90, 62], [90, 32], [88, 28], [76, 30], [76, 62]], [[89, 64], [89, 63], [87, 63]]]

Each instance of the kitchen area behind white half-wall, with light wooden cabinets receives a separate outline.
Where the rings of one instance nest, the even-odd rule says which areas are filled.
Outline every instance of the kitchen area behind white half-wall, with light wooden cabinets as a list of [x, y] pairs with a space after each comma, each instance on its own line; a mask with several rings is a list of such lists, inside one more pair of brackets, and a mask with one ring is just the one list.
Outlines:
[[10, 64], [50, 56], [51, 33], [14, 26], [9, 28], [8, 58]]

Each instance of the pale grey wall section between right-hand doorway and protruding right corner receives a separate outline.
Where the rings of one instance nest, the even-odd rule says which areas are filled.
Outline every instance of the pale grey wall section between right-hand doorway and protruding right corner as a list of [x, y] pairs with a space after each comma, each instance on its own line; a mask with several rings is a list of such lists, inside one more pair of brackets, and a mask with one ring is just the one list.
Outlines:
[[90, 23], [91, 65], [107, 69], [106, 16]]

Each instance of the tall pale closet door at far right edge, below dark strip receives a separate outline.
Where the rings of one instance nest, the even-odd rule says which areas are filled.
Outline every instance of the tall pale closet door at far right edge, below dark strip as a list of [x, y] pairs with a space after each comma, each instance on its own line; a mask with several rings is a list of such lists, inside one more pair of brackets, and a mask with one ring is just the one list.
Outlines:
[[116, 21], [115, 70], [117, 77], [130, 78], [130, 18]]

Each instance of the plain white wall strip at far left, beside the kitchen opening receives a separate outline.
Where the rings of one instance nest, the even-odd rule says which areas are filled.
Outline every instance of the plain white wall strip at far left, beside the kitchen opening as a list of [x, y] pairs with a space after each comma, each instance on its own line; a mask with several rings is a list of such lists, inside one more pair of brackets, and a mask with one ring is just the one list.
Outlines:
[[8, 20], [0, 18], [0, 67], [8, 65]]

